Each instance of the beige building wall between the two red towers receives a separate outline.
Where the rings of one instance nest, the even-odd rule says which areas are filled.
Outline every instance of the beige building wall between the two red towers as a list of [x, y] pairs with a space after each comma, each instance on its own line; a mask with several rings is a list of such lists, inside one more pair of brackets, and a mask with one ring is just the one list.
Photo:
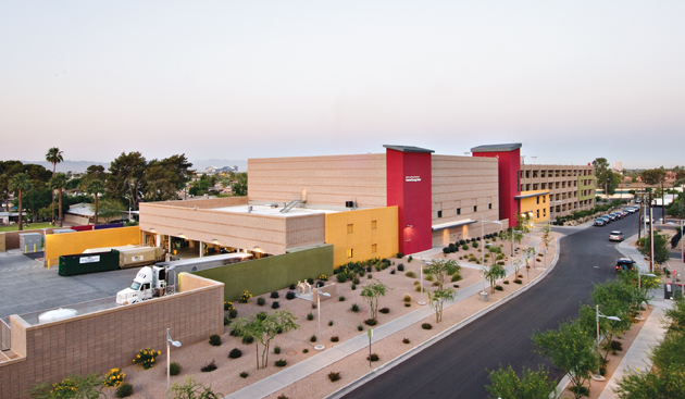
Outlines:
[[[499, 220], [496, 158], [434, 154], [432, 164], [433, 224], [469, 219], [479, 221], [481, 216]], [[457, 214], [458, 209], [460, 214]], [[438, 217], [438, 211], [441, 211], [441, 217]]]

